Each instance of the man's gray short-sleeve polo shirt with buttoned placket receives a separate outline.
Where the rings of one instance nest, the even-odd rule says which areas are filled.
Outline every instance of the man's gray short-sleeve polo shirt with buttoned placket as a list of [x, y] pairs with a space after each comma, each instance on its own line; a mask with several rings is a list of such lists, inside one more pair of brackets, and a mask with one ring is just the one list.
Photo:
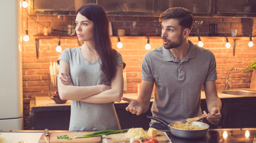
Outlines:
[[155, 82], [151, 112], [169, 123], [202, 115], [203, 83], [217, 80], [214, 54], [188, 41], [190, 48], [182, 61], [163, 46], [147, 52], [142, 60], [141, 80]]

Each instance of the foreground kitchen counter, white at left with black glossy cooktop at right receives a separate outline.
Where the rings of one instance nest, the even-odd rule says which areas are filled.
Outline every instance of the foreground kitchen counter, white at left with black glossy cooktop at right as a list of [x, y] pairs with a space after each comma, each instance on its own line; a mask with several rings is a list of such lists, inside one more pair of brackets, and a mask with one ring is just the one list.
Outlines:
[[[183, 139], [171, 134], [169, 130], [162, 130], [170, 138], [170, 143], [231, 143], [231, 142], [256, 142], [256, 128], [244, 129], [209, 129], [206, 136], [199, 139]], [[0, 137], [7, 142], [18, 143], [26, 141], [27, 143], [38, 142], [44, 131], [1, 131]], [[72, 132], [72, 131], [56, 131], [56, 132]], [[107, 143], [105, 135], [102, 136], [102, 143]]]

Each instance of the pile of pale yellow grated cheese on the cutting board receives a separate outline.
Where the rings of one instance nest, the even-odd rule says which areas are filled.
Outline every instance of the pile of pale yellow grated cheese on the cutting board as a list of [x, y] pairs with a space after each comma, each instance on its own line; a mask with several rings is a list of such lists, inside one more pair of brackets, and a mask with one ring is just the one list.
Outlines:
[[142, 128], [130, 128], [127, 133], [125, 133], [126, 137], [128, 138], [136, 138], [139, 139], [141, 137], [150, 137], [146, 131]]

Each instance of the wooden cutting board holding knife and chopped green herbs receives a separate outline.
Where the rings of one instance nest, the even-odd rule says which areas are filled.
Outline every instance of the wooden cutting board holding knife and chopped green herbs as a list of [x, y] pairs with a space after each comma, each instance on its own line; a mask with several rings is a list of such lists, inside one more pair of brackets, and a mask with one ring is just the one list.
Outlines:
[[[101, 136], [86, 137], [86, 138], [74, 138], [78, 135], [87, 135], [94, 132], [51, 132], [49, 131], [50, 143], [102, 143]], [[57, 139], [57, 136], [68, 135], [69, 138], [73, 139]], [[43, 133], [38, 141], [38, 143], [46, 143], [44, 139], [45, 134]]]

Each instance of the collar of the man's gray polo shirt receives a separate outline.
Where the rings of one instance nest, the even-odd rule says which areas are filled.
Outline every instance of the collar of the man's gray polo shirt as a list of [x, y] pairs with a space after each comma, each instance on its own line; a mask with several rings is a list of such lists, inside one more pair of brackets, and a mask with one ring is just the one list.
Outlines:
[[[187, 55], [185, 56], [187, 59], [189, 58], [195, 58], [196, 57], [196, 50], [195, 50], [195, 46], [194, 44], [188, 40], [189, 44], [190, 44], [190, 47], [189, 47], [189, 50], [188, 50], [188, 53]], [[163, 46], [162, 46], [162, 49], [163, 49], [163, 59], [164, 61], [174, 61], [174, 56], [172, 55], [172, 53], [170, 52], [170, 50], [167, 50], [165, 49]]]

